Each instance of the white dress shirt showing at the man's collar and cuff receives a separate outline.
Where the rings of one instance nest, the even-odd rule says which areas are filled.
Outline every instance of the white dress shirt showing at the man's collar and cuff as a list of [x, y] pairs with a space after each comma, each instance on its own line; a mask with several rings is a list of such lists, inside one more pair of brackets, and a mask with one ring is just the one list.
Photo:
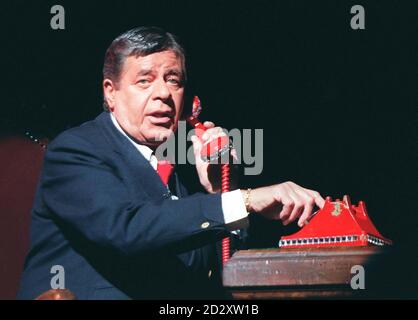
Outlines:
[[[113, 113], [110, 113], [110, 117], [112, 119], [113, 124], [115, 125], [116, 129], [118, 129], [133, 145], [134, 147], [147, 159], [154, 170], [157, 170], [157, 157], [153, 154], [153, 151], [145, 146], [141, 145], [134, 140], [132, 140], [126, 133], [123, 131], [119, 123], [117, 122], [116, 118], [113, 116]], [[222, 197], [222, 212], [224, 215], [225, 224], [235, 225], [236, 228], [239, 229], [245, 227], [247, 224], [247, 216], [248, 212], [245, 208], [244, 200], [242, 199], [241, 190], [237, 189], [230, 192], [224, 192], [221, 194]], [[176, 200], [177, 197], [172, 198]]]

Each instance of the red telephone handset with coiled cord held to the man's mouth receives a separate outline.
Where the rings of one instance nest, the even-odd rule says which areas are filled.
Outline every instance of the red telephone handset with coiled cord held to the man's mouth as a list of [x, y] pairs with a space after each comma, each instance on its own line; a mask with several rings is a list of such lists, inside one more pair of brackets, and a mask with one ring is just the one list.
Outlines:
[[[196, 136], [202, 140], [203, 133], [207, 128], [198, 120], [198, 116], [202, 111], [202, 105], [197, 96], [193, 98], [192, 113], [186, 118], [186, 121], [193, 126]], [[218, 160], [223, 154], [230, 151], [230, 143], [228, 136], [221, 136], [217, 139], [210, 140], [204, 144], [200, 157], [203, 161], [214, 162]], [[222, 189], [221, 192], [229, 191], [229, 164], [222, 164]], [[229, 237], [222, 239], [222, 263], [225, 264], [230, 256]]]

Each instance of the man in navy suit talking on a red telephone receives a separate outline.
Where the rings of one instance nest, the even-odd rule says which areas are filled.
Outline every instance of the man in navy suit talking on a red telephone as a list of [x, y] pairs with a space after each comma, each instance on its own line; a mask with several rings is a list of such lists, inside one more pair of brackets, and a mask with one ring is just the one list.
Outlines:
[[[292, 182], [221, 195], [199, 159], [207, 194], [189, 196], [177, 175], [165, 185], [154, 152], [177, 128], [186, 77], [173, 35], [154, 27], [122, 34], [106, 52], [103, 77], [106, 112], [46, 152], [20, 298], [50, 289], [55, 265], [78, 299], [216, 297], [213, 244], [248, 212], [302, 225], [323, 205]], [[205, 126], [203, 141], [193, 140], [197, 158], [202, 143], [222, 134]]]

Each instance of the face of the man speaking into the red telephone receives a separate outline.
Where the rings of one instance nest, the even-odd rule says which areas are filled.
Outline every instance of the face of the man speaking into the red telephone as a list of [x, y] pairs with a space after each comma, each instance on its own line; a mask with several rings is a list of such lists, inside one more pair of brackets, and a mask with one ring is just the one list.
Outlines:
[[173, 51], [128, 57], [118, 84], [103, 82], [109, 109], [130, 136], [158, 146], [177, 129], [183, 77], [181, 58]]

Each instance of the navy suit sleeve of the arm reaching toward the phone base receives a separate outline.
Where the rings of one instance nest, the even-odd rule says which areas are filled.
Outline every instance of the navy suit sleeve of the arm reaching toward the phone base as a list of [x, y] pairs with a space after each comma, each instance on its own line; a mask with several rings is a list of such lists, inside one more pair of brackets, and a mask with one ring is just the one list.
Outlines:
[[88, 141], [68, 133], [51, 143], [45, 155], [45, 205], [88, 240], [134, 255], [190, 242], [193, 236], [213, 241], [225, 234], [220, 194], [132, 199], [103, 158]]

